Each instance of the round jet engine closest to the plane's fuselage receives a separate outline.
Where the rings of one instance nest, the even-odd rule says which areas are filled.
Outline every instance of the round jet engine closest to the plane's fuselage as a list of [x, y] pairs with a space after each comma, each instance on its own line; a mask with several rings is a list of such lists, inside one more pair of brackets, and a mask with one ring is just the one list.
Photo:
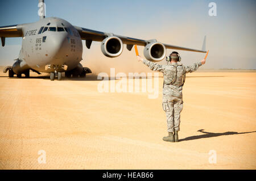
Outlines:
[[107, 57], [118, 57], [123, 52], [123, 42], [119, 37], [106, 37], [101, 43], [101, 51]]

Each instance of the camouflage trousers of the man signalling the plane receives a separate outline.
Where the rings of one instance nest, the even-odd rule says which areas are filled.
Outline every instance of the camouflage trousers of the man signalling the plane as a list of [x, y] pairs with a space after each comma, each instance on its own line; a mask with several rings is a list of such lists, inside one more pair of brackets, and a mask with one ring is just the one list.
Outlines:
[[166, 112], [168, 132], [180, 131], [180, 112], [182, 109], [182, 98], [172, 96], [163, 99], [163, 110]]

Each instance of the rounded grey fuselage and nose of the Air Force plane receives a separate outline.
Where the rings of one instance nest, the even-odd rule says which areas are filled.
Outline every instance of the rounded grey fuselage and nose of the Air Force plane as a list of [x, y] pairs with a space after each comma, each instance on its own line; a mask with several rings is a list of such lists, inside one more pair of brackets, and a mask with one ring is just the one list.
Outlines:
[[54, 71], [53, 65], [65, 65], [67, 70], [72, 70], [82, 60], [79, 32], [63, 19], [44, 18], [23, 24], [22, 32], [20, 68], [50, 73]]

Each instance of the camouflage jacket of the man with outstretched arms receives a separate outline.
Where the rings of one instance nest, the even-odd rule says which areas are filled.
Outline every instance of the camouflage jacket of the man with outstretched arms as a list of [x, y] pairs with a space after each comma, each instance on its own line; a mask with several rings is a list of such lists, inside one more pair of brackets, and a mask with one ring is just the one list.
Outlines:
[[185, 81], [185, 74], [196, 71], [199, 66], [202, 65], [201, 62], [197, 62], [191, 66], [185, 66], [180, 62], [169, 65], [160, 65], [145, 59], [143, 60], [143, 64], [147, 65], [151, 70], [163, 73], [163, 101], [168, 100], [171, 96], [182, 98], [182, 87]]

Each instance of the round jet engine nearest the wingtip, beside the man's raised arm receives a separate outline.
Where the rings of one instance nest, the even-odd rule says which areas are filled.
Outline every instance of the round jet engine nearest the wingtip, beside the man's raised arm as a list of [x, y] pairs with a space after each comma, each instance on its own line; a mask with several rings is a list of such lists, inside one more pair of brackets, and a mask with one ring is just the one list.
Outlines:
[[160, 42], [147, 44], [144, 48], [144, 57], [150, 61], [161, 61], [166, 57], [166, 47]]

